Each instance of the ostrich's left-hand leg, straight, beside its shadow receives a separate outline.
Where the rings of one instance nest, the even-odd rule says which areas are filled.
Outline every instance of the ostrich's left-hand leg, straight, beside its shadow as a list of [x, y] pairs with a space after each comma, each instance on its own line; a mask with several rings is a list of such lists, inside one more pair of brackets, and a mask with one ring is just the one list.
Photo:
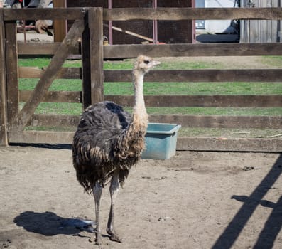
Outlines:
[[[93, 188], [93, 196], [95, 201], [95, 215], [96, 215], [96, 229], [95, 229], [95, 243], [96, 245], [101, 245], [102, 243], [102, 235], [101, 230], [99, 226], [99, 211], [100, 211], [100, 198], [102, 196], [102, 184], [97, 181], [94, 188]], [[90, 241], [93, 241], [92, 238], [90, 238]]]

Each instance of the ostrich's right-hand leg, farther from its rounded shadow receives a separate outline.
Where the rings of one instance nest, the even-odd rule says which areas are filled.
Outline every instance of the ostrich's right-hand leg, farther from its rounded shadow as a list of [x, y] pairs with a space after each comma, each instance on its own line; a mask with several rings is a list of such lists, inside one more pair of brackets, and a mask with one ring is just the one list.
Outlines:
[[111, 195], [111, 208], [109, 211], [109, 220], [107, 224], [107, 233], [110, 235], [110, 239], [121, 243], [121, 238], [114, 231], [114, 203], [116, 201], [116, 196], [119, 192], [119, 172], [115, 172], [112, 176], [111, 186], [109, 186], [109, 193]]

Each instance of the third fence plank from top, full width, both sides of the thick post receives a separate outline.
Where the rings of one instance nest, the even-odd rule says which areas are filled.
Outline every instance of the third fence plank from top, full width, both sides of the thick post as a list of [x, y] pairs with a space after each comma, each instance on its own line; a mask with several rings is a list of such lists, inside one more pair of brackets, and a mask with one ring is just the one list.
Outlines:
[[[19, 78], [40, 78], [44, 70], [34, 67], [18, 68]], [[131, 82], [131, 70], [104, 70], [104, 82]], [[61, 68], [56, 78], [81, 79], [82, 68]], [[152, 70], [145, 82], [282, 82], [282, 69], [200, 69]]]

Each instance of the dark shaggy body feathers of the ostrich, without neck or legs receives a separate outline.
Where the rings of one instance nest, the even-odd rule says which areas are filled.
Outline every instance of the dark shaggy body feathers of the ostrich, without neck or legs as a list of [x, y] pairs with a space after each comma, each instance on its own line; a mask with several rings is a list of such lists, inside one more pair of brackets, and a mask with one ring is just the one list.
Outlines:
[[114, 102], [88, 107], [80, 118], [72, 144], [77, 180], [90, 193], [95, 183], [107, 184], [119, 171], [121, 185], [145, 147], [145, 125]]

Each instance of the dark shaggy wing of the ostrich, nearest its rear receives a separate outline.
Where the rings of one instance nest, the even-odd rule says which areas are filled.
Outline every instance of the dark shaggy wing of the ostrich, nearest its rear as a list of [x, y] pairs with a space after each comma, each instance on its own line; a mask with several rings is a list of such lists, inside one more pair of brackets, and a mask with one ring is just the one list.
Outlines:
[[[96, 181], [107, 182], [121, 166], [115, 158], [116, 147], [130, 122], [131, 115], [114, 102], [92, 105], [82, 114], [73, 139], [72, 159], [77, 179], [87, 192]], [[121, 181], [127, 174], [126, 169]]]

